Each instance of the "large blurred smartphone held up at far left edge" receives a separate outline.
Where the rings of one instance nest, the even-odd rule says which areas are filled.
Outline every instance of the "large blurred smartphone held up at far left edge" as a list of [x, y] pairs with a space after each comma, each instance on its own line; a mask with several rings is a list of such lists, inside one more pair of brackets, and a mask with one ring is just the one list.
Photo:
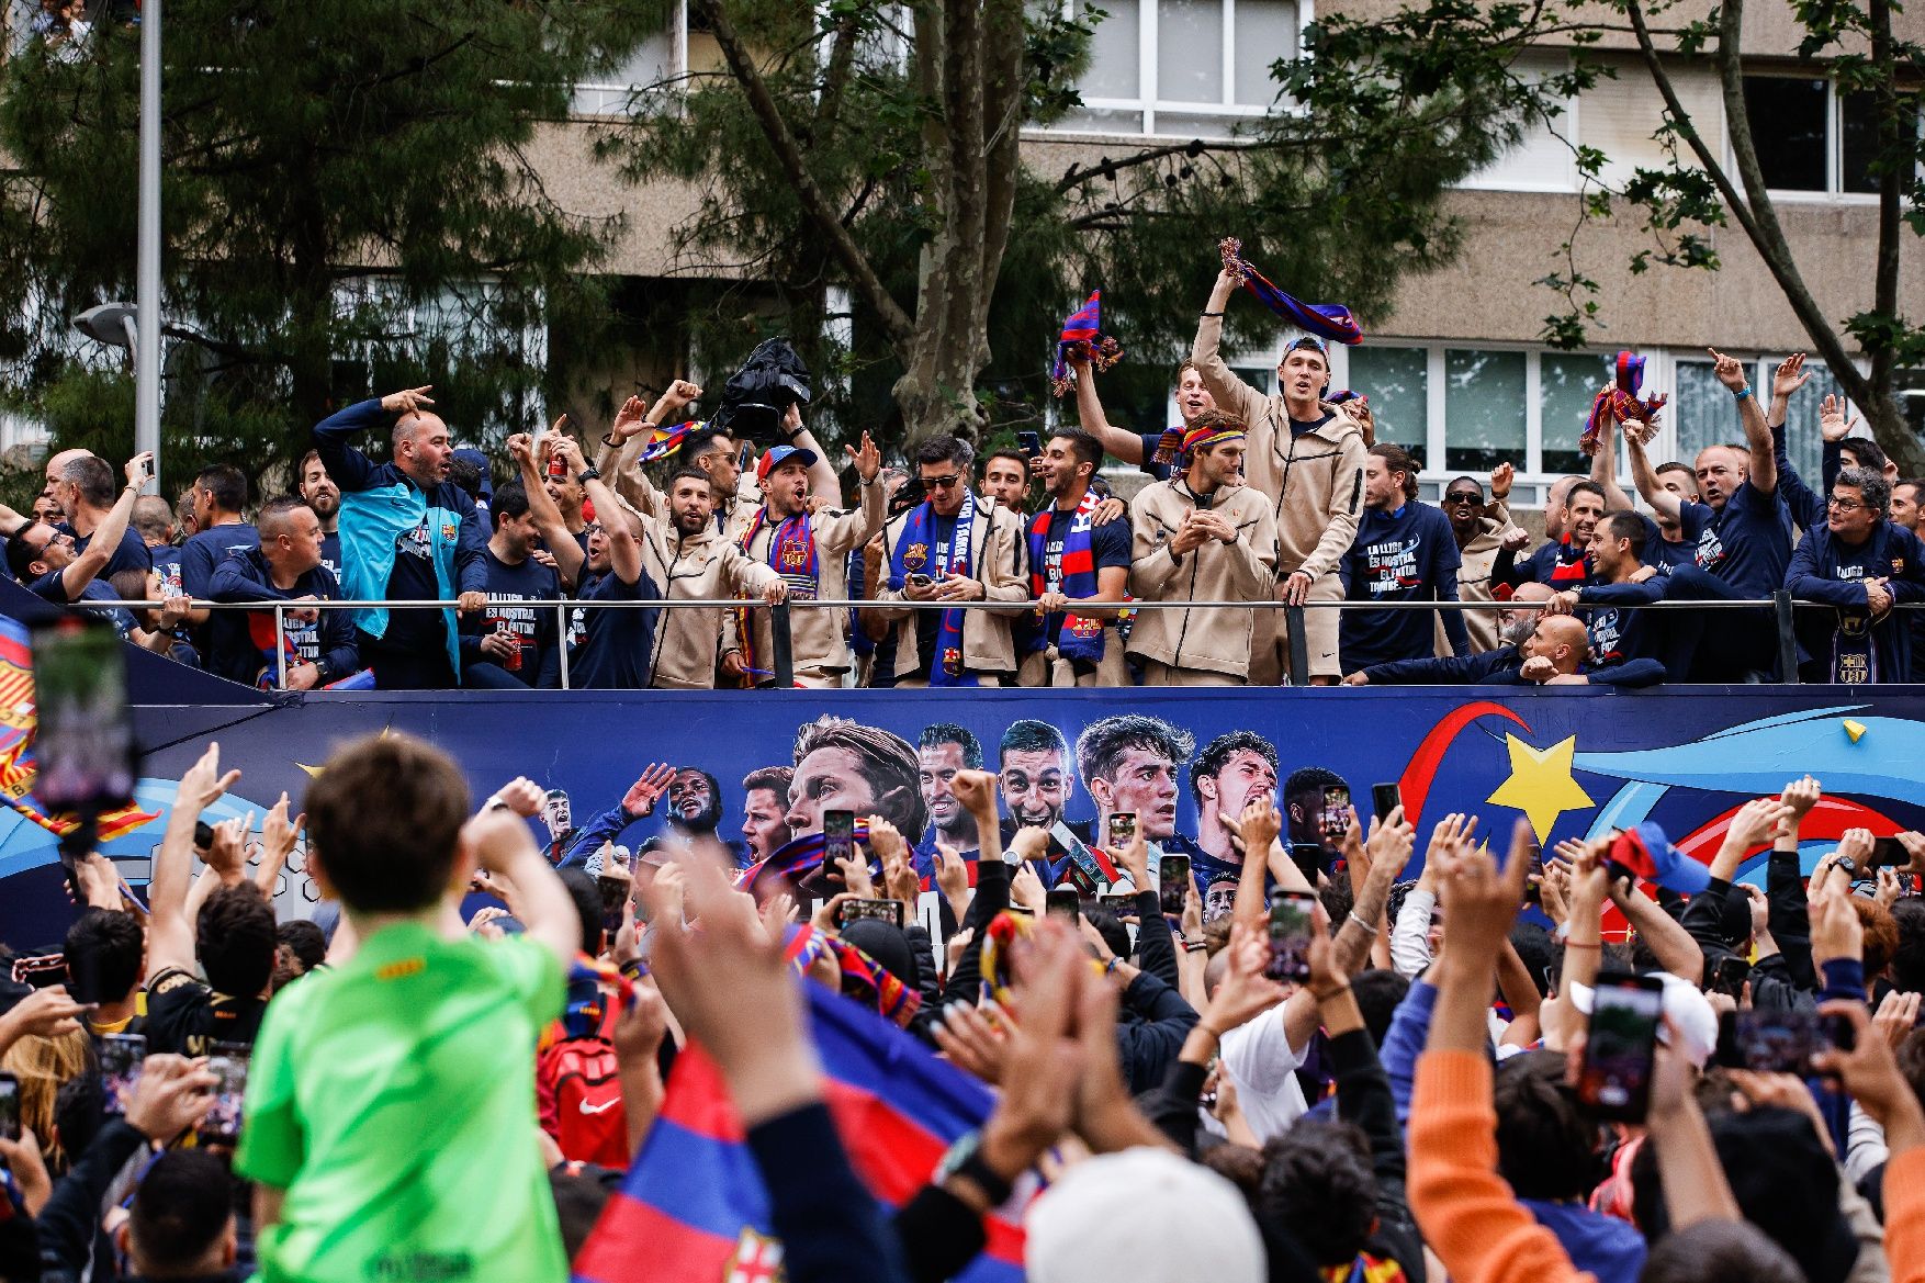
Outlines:
[[100, 620], [62, 616], [33, 630], [38, 771], [33, 796], [48, 811], [133, 801], [133, 719], [119, 638]]

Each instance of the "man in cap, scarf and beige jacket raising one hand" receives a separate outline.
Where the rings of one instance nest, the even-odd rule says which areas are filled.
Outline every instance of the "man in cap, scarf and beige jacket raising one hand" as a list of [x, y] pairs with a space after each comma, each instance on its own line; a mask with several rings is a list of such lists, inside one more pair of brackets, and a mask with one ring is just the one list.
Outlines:
[[[762, 507], [749, 516], [737, 545], [749, 561], [772, 568], [789, 586], [789, 601], [849, 595], [849, 553], [882, 530], [884, 503], [876, 474], [882, 451], [862, 433], [862, 449], [849, 451], [862, 482], [862, 511], [808, 511], [812, 449], [774, 445], [755, 468]], [[818, 491], [820, 497], [820, 491]], [[789, 647], [797, 686], [841, 686], [849, 672], [847, 611], [789, 611]], [[747, 622], [747, 628], [743, 626]], [[724, 668], [741, 668], [747, 686], [774, 686], [774, 640], [768, 611], [741, 611], [722, 626]], [[737, 655], [728, 655], [728, 651]]]

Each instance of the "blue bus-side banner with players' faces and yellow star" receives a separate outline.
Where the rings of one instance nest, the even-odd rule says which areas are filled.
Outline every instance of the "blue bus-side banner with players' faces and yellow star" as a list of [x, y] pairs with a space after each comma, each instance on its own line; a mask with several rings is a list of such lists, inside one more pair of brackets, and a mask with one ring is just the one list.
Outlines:
[[[618, 840], [639, 846], [680, 807], [712, 821], [743, 861], [814, 832], [826, 809], [880, 813], [924, 846], [932, 825], [943, 826], [966, 848], [945, 774], [976, 761], [1001, 774], [1005, 817], [1061, 821], [1091, 840], [1101, 813], [1136, 811], [1151, 840], [1209, 857], [1228, 855], [1220, 811], [1240, 811], [1307, 767], [1340, 776], [1365, 815], [1373, 784], [1399, 784], [1419, 819], [1419, 853], [1430, 823], [1469, 811], [1494, 838], [1525, 815], [1546, 848], [1652, 819], [1707, 861], [1725, 815], [1810, 771], [1827, 790], [1804, 830], [1810, 861], [1850, 826], [1881, 836], [1919, 826], [1925, 798], [1925, 694], [1912, 688], [1871, 697], [1863, 688], [1748, 686], [370, 692], [275, 701], [233, 690], [227, 703], [208, 699], [218, 694], [208, 686], [192, 692], [194, 703], [177, 703], [152, 682], [137, 686], [137, 803], [152, 819], [104, 846], [137, 888], [175, 784], [208, 740], [221, 744], [223, 767], [244, 772], [210, 823], [252, 811], [258, 830], [281, 790], [298, 803], [341, 744], [406, 732], [447, 749], [477, 799], [516, 774], [552, 790], [543, 836], [554, 842], [614, 807], [643, 767], [685, 769], [654, 815]], [[745, 788], [757, 778], [764, 788]], [[1292, 840], [1319, 840], [1324, 784], [1284, 799]], [[277, 900], [283, 917], [312, 909], [302, 850]], [[0, 815], [0, 938], [15, 948], [58, 942], [71, 917], [54, 836]]]

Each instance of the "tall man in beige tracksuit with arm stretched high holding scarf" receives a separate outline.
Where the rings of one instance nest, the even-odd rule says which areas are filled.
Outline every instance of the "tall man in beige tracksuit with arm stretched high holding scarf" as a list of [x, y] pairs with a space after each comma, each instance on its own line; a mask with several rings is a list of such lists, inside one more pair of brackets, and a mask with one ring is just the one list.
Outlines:
[[[1284, 349], [1274, 397], [1236, 378], [1217, 349], [1224, 304], [1238, 285], [1242, 281], [1228, 272], [1217, 275], [1190, 360], [1203, 372], [1203, 385], [1219, 408], [1249, 426], [1244, 476], [1272, 505], [1276, 574], [1282, 580], [1278, 601], [1342, 601], [1344, 584], [1334, 570], [1357, 537], [1357, 516], [1363, 512], [1363, 455], [1373, 432], [1369, 410], [1322, 399], [1330, 385], [1330, 353], [1322, 339], [1309, 335]], [[1257, 620], [1251, 682], [1274, 684], [1288, 667], [1288, 634], [1280, 616], [1282, 611], [1265, 611]], [[1305, 611], [1303, 632], [1309, 678], [1334, 686], [1340, 676], [1338, 613]]]

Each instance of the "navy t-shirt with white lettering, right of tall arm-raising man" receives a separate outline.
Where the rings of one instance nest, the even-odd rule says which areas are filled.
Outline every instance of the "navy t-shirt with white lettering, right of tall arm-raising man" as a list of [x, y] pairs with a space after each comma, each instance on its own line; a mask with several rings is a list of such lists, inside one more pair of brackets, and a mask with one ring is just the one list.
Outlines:
[[[1405, 503], [1396, 512], [1367, 509], [1357, 539], [1338, 563], [1351, 601], [1455, 601], [1463, 555], [1442, 511]], [[1340, 645], [1344, 672], [1392, 659], [1419, 659], [1436, 649], [1430, 611], [1344, 611]], [[1459, 611], [1444, 613], [1451, 649], [1465, 655], [1471, 636]]]

